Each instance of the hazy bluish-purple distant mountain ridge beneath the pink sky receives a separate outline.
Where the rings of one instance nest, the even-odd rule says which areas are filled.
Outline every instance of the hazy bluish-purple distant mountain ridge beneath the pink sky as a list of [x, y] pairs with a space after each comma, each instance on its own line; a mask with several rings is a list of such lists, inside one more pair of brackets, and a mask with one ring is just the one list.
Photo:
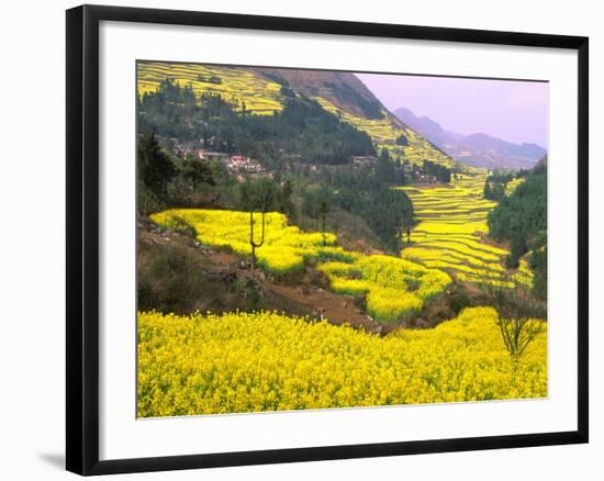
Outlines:
[[513, 144], [486, 134], [461, 135], [445, 131], [427, 116], [401, 108], [394, 114], [454, 159], [489, 169], [530, 169], [547, 150], [536, 144]]

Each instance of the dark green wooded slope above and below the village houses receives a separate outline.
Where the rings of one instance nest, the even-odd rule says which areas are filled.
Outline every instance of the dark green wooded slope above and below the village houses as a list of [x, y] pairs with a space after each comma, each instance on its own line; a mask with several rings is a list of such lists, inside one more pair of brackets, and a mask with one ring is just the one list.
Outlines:
[[[391, 189], [404, 183], [400, 163], [387, 150], [374, 157], [365, 132], [314, 100], [294, 96], [282, 112], [254, 115], [244, 104], [166, 80], [137, 108], [143, 215], [164, 206], [259, 210], [250, 199], [261, 191], [266, 211], [389, 251], [398, 251], [401, 230], [412, 225], [411, 201]], [[223, 157], [202, 160], [201, 148]], [[226, 166], [232, 155], [254, 159], [261, 178], [236, 178]], [[354, 165], [355, 156], [369, 161]]]

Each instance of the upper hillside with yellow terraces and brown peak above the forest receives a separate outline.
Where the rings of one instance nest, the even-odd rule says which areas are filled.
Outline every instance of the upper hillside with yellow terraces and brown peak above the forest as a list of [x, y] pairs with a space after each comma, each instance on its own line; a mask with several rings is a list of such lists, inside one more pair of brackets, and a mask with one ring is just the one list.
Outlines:
[[181, 87], [190, 86], [198, 96], [221, 94], [239, 111], [255, 115], [282, 111], [291, 98], [311, 98], [366, 132], [378, 150], [387, 148], [394, 158], [417, 165], [425, 158], [448, 167], [457, 164], [389, 112], [353, 74], [139, 61], [137, 75], [139, 96], [171, 79]]

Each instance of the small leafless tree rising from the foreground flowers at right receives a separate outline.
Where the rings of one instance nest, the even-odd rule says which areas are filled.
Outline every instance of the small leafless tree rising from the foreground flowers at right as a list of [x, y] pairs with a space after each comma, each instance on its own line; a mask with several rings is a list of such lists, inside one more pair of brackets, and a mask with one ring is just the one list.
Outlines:
[[489, 275], [481, 279], [486, 302], [497, 312], [497, 326], [510, 356], [521, 359], [529, 344], [545, 331], [538, 321], [547, 315], [545, 302], [536, 299], [530, 287], [517, 276], [505, 273], [501, 278]]

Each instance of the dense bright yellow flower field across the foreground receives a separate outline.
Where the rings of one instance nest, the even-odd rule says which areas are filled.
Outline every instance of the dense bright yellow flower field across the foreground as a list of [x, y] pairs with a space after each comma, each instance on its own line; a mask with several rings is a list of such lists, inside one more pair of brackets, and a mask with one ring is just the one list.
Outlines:
[[547, 334], [515, 365], [489, 307], [379, 337], [276, 313], [138, 315], [138, 416], [547, 395]]

